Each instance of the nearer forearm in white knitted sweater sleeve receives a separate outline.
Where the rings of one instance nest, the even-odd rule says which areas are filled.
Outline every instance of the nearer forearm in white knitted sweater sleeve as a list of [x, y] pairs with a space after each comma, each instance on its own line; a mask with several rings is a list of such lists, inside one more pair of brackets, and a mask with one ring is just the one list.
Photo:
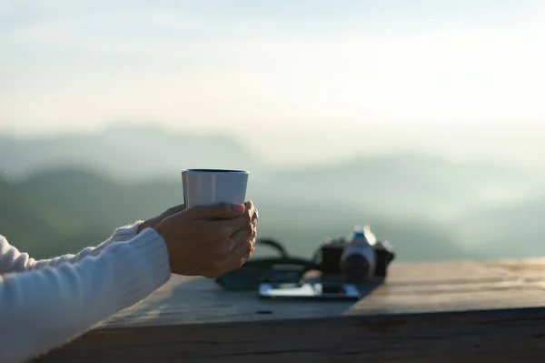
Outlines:
[[153, 229], [77, 264], [0, 277], [0, 361], [21, 362], [58, 347], [169, 277], [166, 246]]

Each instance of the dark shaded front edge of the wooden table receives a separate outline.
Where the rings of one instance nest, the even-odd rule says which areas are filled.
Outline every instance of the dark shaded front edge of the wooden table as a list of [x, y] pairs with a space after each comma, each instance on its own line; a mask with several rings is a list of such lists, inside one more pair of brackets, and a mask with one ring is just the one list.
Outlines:
[[50, 362], [543, 362], [545, 309], [96, 330]]

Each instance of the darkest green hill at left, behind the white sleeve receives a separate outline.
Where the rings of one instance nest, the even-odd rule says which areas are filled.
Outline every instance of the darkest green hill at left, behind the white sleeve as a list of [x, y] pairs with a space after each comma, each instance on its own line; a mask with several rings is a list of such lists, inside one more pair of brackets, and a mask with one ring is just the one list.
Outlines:
[[20, 239], [23, 247], [29, 243], [42, 257], [96, 244], [114, 227], [183, 202], [179, 183], [125, 185], [75, 169], [44, 171], [1, 186], [0, 234]]

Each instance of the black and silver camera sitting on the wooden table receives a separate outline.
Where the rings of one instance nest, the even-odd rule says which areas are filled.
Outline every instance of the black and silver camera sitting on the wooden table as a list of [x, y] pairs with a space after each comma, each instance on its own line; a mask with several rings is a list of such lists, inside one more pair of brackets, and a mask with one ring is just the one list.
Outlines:
[[332, 238], [319, 250], [318, 268], [323, 276], [349, 281], [384, 278], [395, 257], [388, 241], [378, 240], [371, 227], [355, 227], [350, 237]]

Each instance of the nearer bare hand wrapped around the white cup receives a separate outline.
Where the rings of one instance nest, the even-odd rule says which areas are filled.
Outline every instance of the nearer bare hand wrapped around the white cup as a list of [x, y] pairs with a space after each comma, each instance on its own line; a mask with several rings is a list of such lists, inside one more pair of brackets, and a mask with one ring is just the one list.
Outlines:
[[259, 217], [252, 202], [192, 207], [154, 229], [167, 247], [173, 274], [219, 277], [252, 256]]

